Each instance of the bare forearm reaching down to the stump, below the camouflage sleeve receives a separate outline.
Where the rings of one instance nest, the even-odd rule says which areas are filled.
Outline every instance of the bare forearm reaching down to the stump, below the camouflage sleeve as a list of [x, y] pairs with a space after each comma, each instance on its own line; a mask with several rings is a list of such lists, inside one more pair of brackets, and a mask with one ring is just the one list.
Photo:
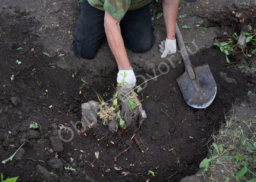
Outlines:
[[130, 69], [131, 64], [129, 63], [127, 53], [125, 51], [124, 41], [121, 35], [119, 22], [109, 21], [108, 16], [109, 14], [106, 12], [105, 21], [108, 21], [108, 23], [105, 22], [105, 32], [108, 39], [109, 47], [114, 54], [118, 68]]

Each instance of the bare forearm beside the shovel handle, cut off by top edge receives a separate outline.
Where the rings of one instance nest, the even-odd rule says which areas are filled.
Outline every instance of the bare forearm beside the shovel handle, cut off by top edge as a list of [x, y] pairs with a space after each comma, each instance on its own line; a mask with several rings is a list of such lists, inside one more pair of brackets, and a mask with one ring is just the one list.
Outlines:
[[168, 39], [175, 39], [175, 23], [178, 15], [179, 0], [163, 0], [163, 18]]

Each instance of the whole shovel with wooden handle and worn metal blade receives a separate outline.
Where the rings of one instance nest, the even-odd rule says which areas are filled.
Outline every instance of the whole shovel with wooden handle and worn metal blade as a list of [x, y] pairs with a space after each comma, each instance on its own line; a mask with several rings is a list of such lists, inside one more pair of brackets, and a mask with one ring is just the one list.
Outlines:
[[208, 64], [192, 66], [183, 38], [176, 22], [176, 39], [180, 48], [185, 72], [176, 79], [185, 102], [194, 108], [208, 107], [217, 92], [217, 86]]

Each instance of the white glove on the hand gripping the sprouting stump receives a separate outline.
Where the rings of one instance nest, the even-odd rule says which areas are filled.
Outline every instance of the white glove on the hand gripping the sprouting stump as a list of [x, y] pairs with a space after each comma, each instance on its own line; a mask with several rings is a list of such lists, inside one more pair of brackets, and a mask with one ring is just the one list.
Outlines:
[[118, 74], [117, 74], [117, 83], [119, 83], [119, 86], [124, 86], [126, 84], [131, 84], [133, 87], [136, 84], [136, 77], [133, 72], [133, 69], [130, 70], [121, 70], [118, 69]]

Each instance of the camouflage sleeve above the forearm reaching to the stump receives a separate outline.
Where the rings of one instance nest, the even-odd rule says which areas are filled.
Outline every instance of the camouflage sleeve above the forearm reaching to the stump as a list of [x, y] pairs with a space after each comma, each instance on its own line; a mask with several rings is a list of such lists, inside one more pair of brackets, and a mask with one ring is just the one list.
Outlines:
[[115, 19], [122, 19], [127, 12], [131, 0], [105, 0], [103, 8]]

